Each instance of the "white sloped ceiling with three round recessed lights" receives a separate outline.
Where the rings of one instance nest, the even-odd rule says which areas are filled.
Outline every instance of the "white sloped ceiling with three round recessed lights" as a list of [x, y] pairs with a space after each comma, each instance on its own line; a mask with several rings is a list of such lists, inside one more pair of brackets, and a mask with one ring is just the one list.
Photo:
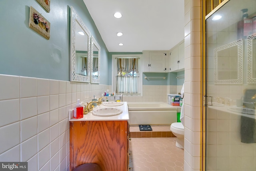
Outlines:
[[[84, 4], [109, 52], [170, 50], [184, 39], [184, 0], [84, 0]], [[115, 12], [122, 18], [114, 18]]]

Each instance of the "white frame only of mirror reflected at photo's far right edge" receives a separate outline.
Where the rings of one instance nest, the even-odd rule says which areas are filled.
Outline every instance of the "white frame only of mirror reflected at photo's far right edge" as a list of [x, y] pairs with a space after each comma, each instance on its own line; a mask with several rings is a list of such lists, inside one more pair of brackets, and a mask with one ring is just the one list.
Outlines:
[[[247, 36], [247, 83], [256, 83], [256, 78], [252, 78], [252, 72], [253, 69], [256, 70], [256, 68], [252, 68], [252, 57], [253, 57], [253, 49], [252, 49], [252, 40], [256, 39], [256, 33]], [[256, 49], [254, 50], [256, 51]], [[254, 56], [256, 58], [256, 56]], [[255, 59], [256, 60], [256, 59]]]

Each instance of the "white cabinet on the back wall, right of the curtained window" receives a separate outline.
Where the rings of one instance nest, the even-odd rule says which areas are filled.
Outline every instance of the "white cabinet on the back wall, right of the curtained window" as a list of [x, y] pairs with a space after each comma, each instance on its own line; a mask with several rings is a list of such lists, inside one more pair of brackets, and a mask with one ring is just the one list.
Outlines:
[[143, 72], [169, 72], [168, 52], [143, 51]]

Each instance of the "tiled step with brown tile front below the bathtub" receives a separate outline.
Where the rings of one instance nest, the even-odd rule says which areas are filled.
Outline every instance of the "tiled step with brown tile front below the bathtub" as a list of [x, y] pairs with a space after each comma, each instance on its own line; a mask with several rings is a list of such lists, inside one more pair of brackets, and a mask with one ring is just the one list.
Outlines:
[[151, 125], [152, 131], [140, 131], [139, 126], [130, 126], [129, 137], [175, 137], [170, 125]]

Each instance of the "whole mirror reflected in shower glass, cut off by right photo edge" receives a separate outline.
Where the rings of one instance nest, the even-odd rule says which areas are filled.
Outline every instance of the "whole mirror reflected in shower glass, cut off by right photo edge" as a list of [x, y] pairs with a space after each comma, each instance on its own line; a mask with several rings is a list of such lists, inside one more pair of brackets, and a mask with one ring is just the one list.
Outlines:
[[256, 83], [256, 33], [247, 36], [247, 83]]

